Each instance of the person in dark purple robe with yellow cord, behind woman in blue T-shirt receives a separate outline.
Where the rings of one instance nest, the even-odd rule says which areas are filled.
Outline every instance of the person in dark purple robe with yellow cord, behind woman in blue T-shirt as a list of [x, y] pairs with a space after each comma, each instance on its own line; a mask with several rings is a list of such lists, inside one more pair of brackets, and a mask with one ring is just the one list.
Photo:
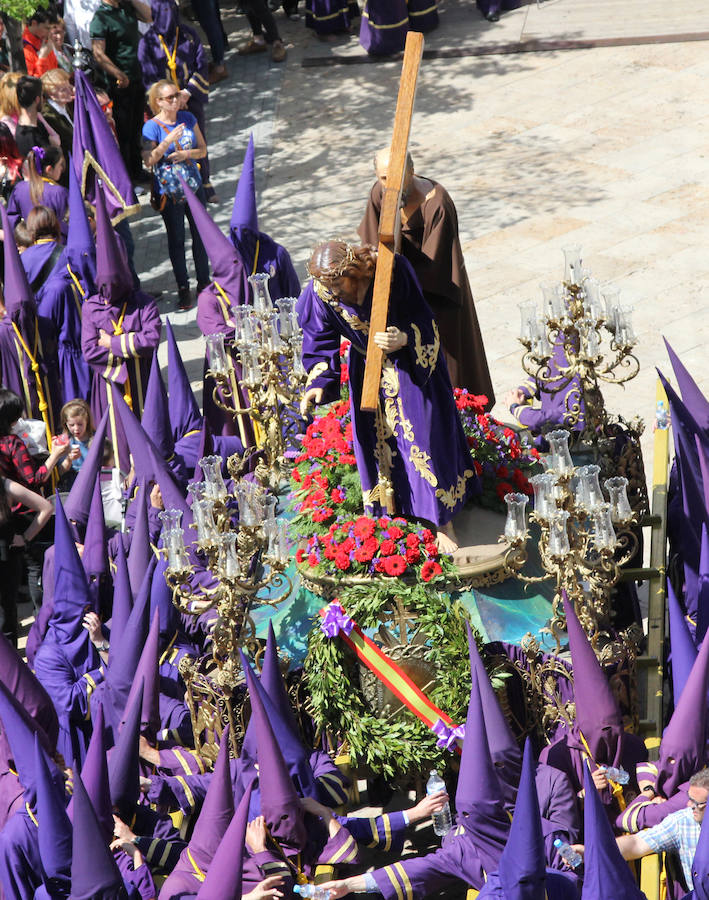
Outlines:
[[[152, 0], [153, 24], [143, 35], [138, 59], [143, 71], [146, 91], [161, 78], [167, 78], [180, 89], [180, 109], [187, 109], [197, 119], [199, 130], [207, 140], [204, 108], [209, 100], [207, 56], [199, 35], [179, 17], [174, 0]], [[209, 180], [209, 157], [199, 164], [208, 203], [217, 197]]]

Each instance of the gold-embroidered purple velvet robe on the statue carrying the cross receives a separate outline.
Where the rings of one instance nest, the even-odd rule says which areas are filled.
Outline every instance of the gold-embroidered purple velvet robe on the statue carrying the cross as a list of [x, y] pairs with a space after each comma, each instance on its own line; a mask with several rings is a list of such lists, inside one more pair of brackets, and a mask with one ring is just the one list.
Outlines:
[[391, 486], [397, 514], [443, 525], [479, 484], [438, 329], [406, 259], [396, 258], [387, 323], [405, 332], [408, 344], [384, 355], [376, 413], [360, 410], [371, 305], [371, 285], [357, 307], [321, 299], [308, 284], [298, 300], [308, 387], [323, 388], [323, 403], [336, 399], [340, 339], [351, 341], [352, 435], [365, 509], [384, 509]]

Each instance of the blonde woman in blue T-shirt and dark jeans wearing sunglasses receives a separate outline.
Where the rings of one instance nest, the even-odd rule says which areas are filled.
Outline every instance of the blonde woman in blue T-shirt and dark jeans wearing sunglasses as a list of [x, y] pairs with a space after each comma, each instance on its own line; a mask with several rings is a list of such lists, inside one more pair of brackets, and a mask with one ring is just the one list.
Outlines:
[[143, 159], [153, 169], [154, 192], [160, 197], [179, 307], [189, 309], [192, 294], [185, 263], [185, 215], [192, 233], [197, 293], [209, 284], [209, 261], [178, 176], [184, 178], [204, 205], [206, 196], [196, 160], [204, 159], [207, 145], [197, 119], [191, 112], [179, 109], [180, 91], [171, 81], [156, 82], [148, 92], [148, 102], [155, 115], [143, 125]]

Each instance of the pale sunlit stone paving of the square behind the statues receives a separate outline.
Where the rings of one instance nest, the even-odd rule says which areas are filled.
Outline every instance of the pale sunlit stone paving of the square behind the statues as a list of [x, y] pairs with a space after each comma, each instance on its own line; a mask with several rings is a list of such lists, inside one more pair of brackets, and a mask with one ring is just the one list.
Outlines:
[[[207, 137], [222, 202], [211, 211], [228, 222], [253, 130], [261, 225], [304, 275], [318, 239], [356, 229], [372, 152], [390, 139], [400, 63], [369, 60], [354, 37], [322, 43], [280, 13], [278, 24], [287, 62], [232, 50], [231, 78], [213, 92]], [[243, 17], [226, 25], [232, 47], [248, 36]], [[654, 366], [669, 368], [661, 334], [709, 391], [705, 29], [701, 0], [545, 0], [494, 25], [473, 0], [441, 3], [411, 149], [456, 201], [498, 396], [521, 380], [517, 304], [560, 278], [560, 248], [573, 242], [635, 307], [641, 372], [606, 391], [609, 408], [652, 418]], [[172, 289], [160, 219], [144, 208], [134, 230], [148, 288]], [[194, 316], [170, 313], [198, 378]], [[644, 447], [649, 462], [649, 434]]]

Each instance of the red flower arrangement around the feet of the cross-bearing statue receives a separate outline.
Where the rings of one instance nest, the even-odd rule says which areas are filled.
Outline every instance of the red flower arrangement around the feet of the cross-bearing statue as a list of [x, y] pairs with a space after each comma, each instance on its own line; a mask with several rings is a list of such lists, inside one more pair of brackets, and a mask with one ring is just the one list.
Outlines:
[[[440, 557], [429, 528], [403, 518], [362, 514], [362, 489], [352, 444], [347, 399], [347, 342], [340, 355], [342, 399], [315, 419], [302, 438], [294, 460], [291, 532], [301, 547], [296, 562], [318, 574], [363, 576], [380, 574], [430, 582], [453, 569]], [[487, 397], [455, 391], [455, 402], [483, 481], [483, 498], [504, 507], [505, 493], [532, 493], [525, 472], [536, 451], [519, 435], [484, 412]]]

